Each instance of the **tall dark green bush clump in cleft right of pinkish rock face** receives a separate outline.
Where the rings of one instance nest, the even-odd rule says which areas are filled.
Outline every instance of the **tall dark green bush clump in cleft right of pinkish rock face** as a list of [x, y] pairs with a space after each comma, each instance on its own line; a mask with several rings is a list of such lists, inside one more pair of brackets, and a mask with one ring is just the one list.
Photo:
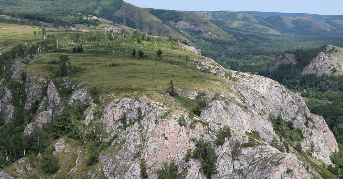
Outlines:
[[205, 142], [203, 138], [196, 141], [196, 148], [193, 150], [193, 158], [201, 159], [201, 166], [207, 178], [211, 178], [215, 172], [217, 156], [211, 142]]

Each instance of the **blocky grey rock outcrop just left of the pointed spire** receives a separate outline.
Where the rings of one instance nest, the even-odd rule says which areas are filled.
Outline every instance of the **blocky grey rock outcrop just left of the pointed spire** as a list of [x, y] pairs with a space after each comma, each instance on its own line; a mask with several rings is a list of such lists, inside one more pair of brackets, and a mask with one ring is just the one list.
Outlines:
[[27, 96], [27, 102], [25, 103], [25, 109], [31, 108], [31, 104], [36, 100], [40, 100], [43, 95], [44, 86], [46, 80], [39, 76], [28, 76], [25, 83], [25, 92]]

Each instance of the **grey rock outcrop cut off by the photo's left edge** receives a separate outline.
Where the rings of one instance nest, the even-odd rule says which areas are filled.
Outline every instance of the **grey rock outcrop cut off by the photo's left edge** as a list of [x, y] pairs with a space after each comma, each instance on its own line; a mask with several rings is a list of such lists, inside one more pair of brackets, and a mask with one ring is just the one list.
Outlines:
[[10, 104], [12, 99], [12, 93], [7, 88], [0, 89], [0, 112], [3, 112], [3, 116], [0, 120], [3, 120], [7, 124], [11, 119], [14, 112], [14, 106]]

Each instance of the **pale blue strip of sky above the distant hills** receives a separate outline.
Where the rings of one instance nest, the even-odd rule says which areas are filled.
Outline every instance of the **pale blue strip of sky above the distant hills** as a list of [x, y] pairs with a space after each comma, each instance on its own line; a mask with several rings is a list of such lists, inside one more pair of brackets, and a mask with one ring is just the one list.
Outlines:
[[263, 11], [343, 14], [343, 0], [124, 0], [140, 8], [178, 11]]

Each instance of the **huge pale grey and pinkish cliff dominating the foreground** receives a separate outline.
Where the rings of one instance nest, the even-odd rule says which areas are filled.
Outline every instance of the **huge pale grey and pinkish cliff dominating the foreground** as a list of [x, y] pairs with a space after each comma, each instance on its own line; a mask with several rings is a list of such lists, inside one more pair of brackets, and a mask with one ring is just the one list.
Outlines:
[[[140, 174], [140, 162], [144, 159], [150, 178], [157, 179], [156, 171], [163, 162], [175, 160], [179, 171], [187, 170], [186, 178], [206, 178], [201, 171], [200, 161], [184, 160], [188, 149], [195, 149], [198, 139], [214, 142], [216, 134], [225, 125], [232, 128], [232, 138], [225, 140], [223, 146], [213, 144], [218, 156], [215, 162], [216, 174], [212, 178], [314, 178], [320, 174], [313, 168], [306, 170], [306, 161], [297, 155], [280, 152], [269, 144], [273, 137], [278, 142], [269, 114], [282, 114], [283, 120], [292, 121], [295, 128], [304, 135], [301, 146], [325, 164], [332, 164], [331, 152], [338, 151], [337, 143], [324, 119], [309, 112], [304, 100], [291, 93], [279, 83], [257, 75], [249, 75], [213, 66], [213, 61], [198, 61], [197, 68], [207, 73], [222, 76], [227, 80], [227, 88], [222, 91], [187, 91], [179, 94], [195, 99], [198, 92], [205, 92], [202, 98], [207, 100], [200, 117], [188, 115], [186, 109], [166, 94], [159, 95], [161, 102], [151, 99], [115, 99], [104, 109], [100, 121], [110, 136], [118, 135], [109, 151], [99, 156], [102, 166], [88, 172], [91, 178], [98, 178], [97, 173], [104, 172], [108, 178], [137, 178]], [[216, 69], [216, 68], [217, 69]], [[168, 102], [169, 101], [169, 102]], [[168, 106], [163, 105], [164, 102]], [[143, 116], [125, 130], [122, 129], [122, 117], [126, 114], [126, 124]], [[186, 126], [180, 126], [178, 118], [184, 115]], [[197, 121], [190, 128], [192, 121]], [[246, 132], [257, 131], [259, 139], [253, 139]], [[283, 139], [284, 140], [284, 139]], [[121, 143], [121, 142], [125, 143]], [[234, 145], [239, 142], [239, 153]], [[246, 144], [246, 145], [244, 145]], [[282, 144], [281, 144], [282, 145]], [[305, 165], [304, 165], [305, 163]], [[187, 167], [187, 168], [186, 168]]]

